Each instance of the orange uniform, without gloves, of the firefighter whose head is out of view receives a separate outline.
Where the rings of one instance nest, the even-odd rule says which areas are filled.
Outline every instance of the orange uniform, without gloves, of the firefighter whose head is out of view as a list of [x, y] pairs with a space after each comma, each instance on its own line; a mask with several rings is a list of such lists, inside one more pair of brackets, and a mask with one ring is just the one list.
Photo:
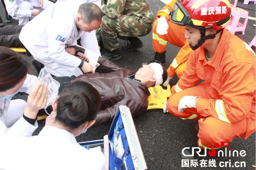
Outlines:
[[[155, 52], [164, 52], [167, 42], [172, 45], [182, 47], [181, 50], [178, 52], [177, 56], [169, 66], [167, 72], [169, 77], [173, 77], [175, 74], [176, 69], [179, 65], [184, 63], [189, 58], [189, 53], [191, 52], [191, 48], [189, 46], [188, 41], [185, 39], [186, 30], [183, 26], [179, 26], [172, 21], [170, 21], [170, 13], [172, 11], [173, 6], [175, 5], [175, 0], [171, 0], [162, 10], [159, 10], [156, 18], [160, 18], [164, 16], [168, 23], [168, 34], [166, 35], [159, 35], [156, 33], [156, 25], [153, 26], [153, 47]], [[157, 22], [157, 20], [155, 21]], [[180, 74], [179, 74], [180, 75]]]

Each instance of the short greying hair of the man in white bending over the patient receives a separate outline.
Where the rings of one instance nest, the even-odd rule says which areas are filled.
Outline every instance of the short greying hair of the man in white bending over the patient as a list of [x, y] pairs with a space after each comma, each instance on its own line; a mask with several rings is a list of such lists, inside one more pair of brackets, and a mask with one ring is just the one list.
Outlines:
[[101, 8], [93, 3], [83, 3], [78, 8], [78, 13], [82, 16], [82, 20], [89, 24], [92, 20], [102, 20]]

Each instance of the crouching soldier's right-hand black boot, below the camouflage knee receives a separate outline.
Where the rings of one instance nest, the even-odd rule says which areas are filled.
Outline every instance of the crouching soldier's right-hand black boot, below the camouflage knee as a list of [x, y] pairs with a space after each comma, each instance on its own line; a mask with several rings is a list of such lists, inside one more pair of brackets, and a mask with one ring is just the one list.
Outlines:
[[124, 51], [133, 51], [139, 49], [143, 46], [142, 41], [137, 37], [129, 37], [124, 40], [124, 46], [122, 49]]

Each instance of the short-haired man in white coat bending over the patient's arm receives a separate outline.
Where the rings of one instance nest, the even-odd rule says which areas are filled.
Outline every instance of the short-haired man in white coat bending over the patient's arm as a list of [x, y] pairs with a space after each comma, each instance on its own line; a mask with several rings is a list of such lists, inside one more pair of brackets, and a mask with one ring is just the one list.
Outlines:
[[98, 28], [101, 19], [101, 9], [93, 3], [58, 2], [27, 23], [19, 38], [34, 59], [56, 77], [94, 73], [95, 67], [74, 56], [74, 46], [83, 32]]

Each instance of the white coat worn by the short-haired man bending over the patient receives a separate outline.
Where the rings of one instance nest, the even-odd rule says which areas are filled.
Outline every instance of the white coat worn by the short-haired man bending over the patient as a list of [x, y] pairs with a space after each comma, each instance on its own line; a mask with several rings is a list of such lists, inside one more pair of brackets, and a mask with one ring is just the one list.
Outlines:
[[78, 68], [81, 59], [65, 52], [65, 47], [76, 46], [77, 39], [84, 33], [78, 31], [75, 24], [80, 5], [81, 1], [76, 0], [55, 3], [27, 23], [20, 32], [20, 41], [34, 59], [44, 64], [56, 77], [82, 74]]

